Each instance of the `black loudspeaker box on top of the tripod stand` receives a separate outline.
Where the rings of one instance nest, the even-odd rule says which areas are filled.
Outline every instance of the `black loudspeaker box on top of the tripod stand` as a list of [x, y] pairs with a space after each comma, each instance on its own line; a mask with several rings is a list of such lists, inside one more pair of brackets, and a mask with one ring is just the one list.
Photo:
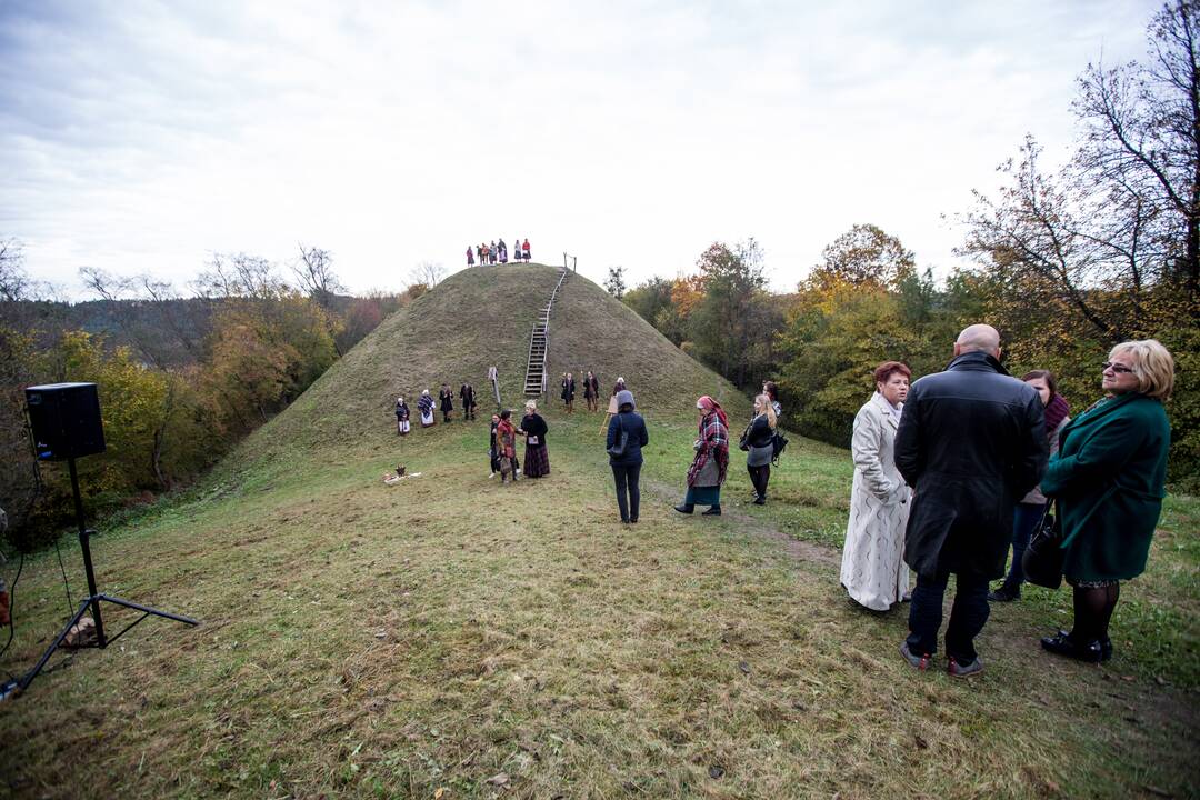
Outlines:
[[29, 427], [41, 461], [104, 452], [96, 384], [48, 384], [25, 390]]

